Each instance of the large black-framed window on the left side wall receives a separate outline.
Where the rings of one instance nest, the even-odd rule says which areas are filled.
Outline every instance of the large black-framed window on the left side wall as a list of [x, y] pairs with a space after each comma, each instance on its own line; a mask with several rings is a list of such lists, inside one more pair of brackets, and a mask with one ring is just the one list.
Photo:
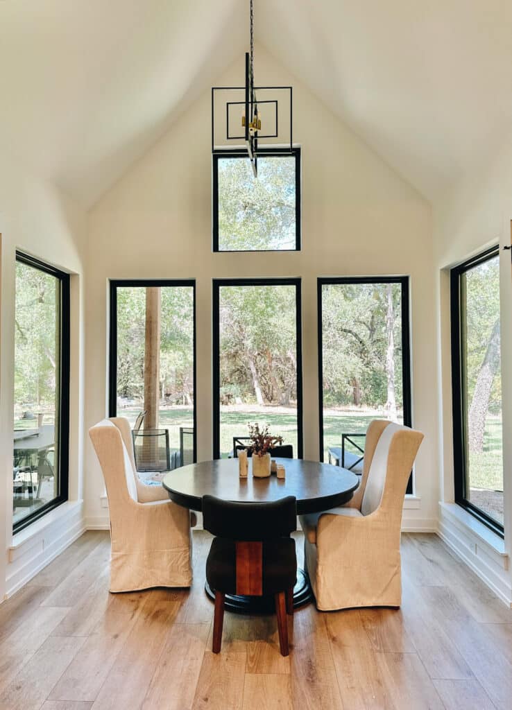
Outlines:
[[16, 254], [13, 529], [67, 501], [70, 278]]

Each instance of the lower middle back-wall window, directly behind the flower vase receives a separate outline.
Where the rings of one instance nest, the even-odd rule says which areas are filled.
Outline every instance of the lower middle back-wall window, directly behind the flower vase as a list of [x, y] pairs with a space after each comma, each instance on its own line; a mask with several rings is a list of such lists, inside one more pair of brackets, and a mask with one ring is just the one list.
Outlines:
[[214, 458], [248, 422], [303, 456], [300, 280], [214, 280]]

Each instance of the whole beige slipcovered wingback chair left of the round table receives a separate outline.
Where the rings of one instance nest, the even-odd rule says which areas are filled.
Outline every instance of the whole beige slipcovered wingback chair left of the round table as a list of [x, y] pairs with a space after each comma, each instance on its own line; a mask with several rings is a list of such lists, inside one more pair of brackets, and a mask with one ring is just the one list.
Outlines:
[[138, 478], [128, 420], [104, 419], [89, 436], [109, 501], [110, 591], [190, 586], [190, 511], [170, 501], [162, 486]]

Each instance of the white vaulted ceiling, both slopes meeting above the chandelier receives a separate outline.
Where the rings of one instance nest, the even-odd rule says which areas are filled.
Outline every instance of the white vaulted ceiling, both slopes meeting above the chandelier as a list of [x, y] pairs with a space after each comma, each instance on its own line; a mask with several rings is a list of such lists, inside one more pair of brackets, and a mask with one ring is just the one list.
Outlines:
[[[248, 4], [0, 0], [0, 145], [92, 204], [241, 58]], [[433, 202], [508, 136], [509, 0], [255, 0], [255, 15], [258, 42]]]

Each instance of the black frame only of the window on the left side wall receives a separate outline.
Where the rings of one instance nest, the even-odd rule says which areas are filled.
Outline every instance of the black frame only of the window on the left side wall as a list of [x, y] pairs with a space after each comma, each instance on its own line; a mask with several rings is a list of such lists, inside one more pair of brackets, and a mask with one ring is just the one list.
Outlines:
[[[35, 256], [16, 250], [16, 261], [53, 276], [59, 288], [59, 383], [58, 383], [58, 447], [55, 447], [55, 459], [58, 461], [58, 495], [44, 506], [13, 523], [13, 534], [28, 528], [36, 520], [66, 503], [69, 498], [70, 476], [70, 275]], [[15, 355], [16, 356], [16, 355]]]

